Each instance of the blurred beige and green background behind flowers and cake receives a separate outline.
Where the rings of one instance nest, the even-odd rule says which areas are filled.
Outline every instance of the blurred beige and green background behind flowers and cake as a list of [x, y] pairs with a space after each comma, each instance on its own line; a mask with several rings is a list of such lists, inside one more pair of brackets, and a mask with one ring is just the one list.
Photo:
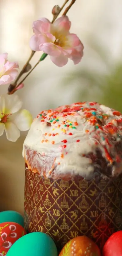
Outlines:
[[[63, 0], [0, 0], [0, 52], [9, 60], [27, 60], [32, 22], [40, 17], [52, 19], [51, 9]], [[84, 44], [79, 65], [69, 61], [56, 67], [47, 57], [27, 78], [18, 92], [23, 107], [35, 117], [42, 109], [75, 101], [95, 100], [122, 111], [122, 1], [76, 0], [68, 13], [71, 32]], [[41, 53], [31, 61], [37, 62]], [[0, 87], [0, 94], [8, 86]], [[16, 142], [0, 138], [0, 211], [23, 213], [24, 160], [22, 144], [25, 133]]]

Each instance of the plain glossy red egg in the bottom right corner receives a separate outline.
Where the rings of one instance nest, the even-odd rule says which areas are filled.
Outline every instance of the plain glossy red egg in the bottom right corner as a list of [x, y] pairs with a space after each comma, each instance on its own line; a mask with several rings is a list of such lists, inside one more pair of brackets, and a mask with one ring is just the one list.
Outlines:
[[109, 237], [103, 248], [103, 256], [122, 256], [122, 231]]

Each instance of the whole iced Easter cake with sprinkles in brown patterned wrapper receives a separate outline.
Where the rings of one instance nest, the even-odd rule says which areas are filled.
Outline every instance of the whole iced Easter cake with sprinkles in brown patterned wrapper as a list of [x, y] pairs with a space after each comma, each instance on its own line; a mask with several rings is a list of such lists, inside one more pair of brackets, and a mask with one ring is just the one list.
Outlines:
[[25, 225], [58, 247], [83, 234], [101, 248], [122, 229], [122, 115], [94, 102], [41, 111], [23, 146]]

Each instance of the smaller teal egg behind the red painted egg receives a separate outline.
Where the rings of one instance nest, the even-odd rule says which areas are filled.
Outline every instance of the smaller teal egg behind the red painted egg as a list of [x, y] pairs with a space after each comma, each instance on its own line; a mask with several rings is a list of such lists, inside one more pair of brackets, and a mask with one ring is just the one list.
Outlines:
[[0, 212], [0, 223], [15, 222], [24, 227], [24, 218], [17, 211], [2, 211]]

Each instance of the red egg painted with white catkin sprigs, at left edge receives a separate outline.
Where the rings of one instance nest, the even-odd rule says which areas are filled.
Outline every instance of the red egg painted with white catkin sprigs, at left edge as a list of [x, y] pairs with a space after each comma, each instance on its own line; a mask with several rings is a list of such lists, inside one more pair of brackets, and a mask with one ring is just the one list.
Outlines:
[[15, 222], [4, 222], [0, 224], [0, 255], [6, 254], [10, 247], [21, 236], [26, 234], [25, 229]]

